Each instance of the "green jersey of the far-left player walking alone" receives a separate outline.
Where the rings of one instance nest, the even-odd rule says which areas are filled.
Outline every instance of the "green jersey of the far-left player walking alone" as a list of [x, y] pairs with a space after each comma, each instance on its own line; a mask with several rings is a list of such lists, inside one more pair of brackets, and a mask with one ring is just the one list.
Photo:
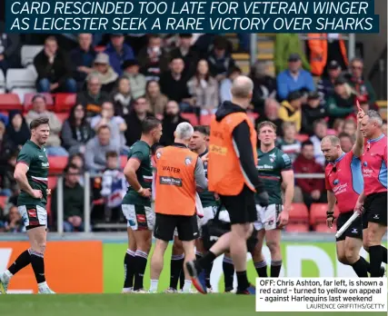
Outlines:
[[39, 205], [45, 208], [49, 167], [45, 147], [39, 147], [36, 143], [28, 140], [17, 156], [17, 163], [25, 163], [28, 166], [26, 173], [28, 183], [34, 190], [40, 190], [43, 194], [43, 198], [40, 200], [22, 191], [17, 198], [17, 205]]

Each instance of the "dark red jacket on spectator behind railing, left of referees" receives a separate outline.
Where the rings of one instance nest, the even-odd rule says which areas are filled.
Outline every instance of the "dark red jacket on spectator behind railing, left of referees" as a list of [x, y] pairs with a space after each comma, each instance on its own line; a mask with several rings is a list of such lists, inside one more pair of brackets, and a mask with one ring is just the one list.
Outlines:
[[[308, 160], [300, 154], [293, 163], [294, 173], [323, 173], [323, 167], [319, 163], [315, 163], [315, 160]], [[298, 185], [304, 193], [312, 193], [314, 190], [323, 192], [324, 180], [323, 179], [296, 179], [296, 185]]]

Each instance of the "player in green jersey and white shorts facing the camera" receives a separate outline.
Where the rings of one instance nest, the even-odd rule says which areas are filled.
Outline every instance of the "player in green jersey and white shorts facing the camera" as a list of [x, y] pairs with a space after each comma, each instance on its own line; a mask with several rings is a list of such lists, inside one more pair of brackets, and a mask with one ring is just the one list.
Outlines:
[[[254, 267], [259, 277], [267, 277], [267, 266], [262, 252], [265, 236], [265, 242], [271, 252], [271, 277], [277, 278], [282, 268], [281, 230], [288, 222], [293, 202], [293, 165], [290, 157], [275, 147], [274, 123], [260, 123], [257, 132], [260, 141], [257, 170], [269, 194], [269, 204], [267, 207], [256, 204], [257, 222], [254, 222], [254, 228], [259, 231], [259, 242], [253, 252]], [[284, 202], [282, 186], [285, 190]]]

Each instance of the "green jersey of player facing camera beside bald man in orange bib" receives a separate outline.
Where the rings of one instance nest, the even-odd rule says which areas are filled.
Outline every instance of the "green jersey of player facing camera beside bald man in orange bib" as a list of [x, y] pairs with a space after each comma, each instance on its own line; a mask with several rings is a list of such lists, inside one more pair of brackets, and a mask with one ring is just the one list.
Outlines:
[[269, 204], [283, 204], [282, 201], [282, 172], [292, 170], [290, 157], [279, 148], [268, 153], [257, 150], [257, 171], [269, 195]]

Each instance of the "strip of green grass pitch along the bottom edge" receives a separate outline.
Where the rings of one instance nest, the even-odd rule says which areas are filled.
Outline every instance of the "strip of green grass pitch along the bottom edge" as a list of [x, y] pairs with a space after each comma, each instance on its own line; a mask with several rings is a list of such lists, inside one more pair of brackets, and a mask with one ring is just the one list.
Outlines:
[[[10, 316], [309, 316], [351, 315], [351, 312], [255, 312], [254, 296], [234, 294], [90, 294], [90, 295], [1, 295], [0, 314]], [[357, 312], [357, 316], [371, 312]], [[375, 312], [375, 316], [386, 315]]]

